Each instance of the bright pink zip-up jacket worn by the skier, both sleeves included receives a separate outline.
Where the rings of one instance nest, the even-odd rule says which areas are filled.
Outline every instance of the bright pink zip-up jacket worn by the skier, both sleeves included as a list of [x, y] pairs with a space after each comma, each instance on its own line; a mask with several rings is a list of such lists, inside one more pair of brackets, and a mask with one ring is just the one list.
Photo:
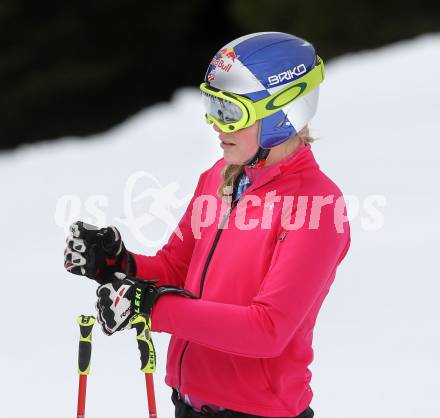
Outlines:
[[257, 178], [219, 228], [224, 164], [200, 176], [183, 240], [135, 255], [139, 278], [199, 296], [166, 295], [153, 309], [153, 330], [172, 334], [165, 381], [227, 409], [296, 416], [313, 396], [316, 317], [350, 245], [342, 194], [307, 145]]

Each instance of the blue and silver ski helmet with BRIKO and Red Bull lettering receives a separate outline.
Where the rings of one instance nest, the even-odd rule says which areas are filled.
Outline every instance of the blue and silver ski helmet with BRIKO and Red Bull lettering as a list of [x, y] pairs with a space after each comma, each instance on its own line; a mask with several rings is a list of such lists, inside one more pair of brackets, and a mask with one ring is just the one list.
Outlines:
[[[282, 32], [258, 32], [221, 48], [209, 64], [202, 86], [223, 93], [226, 99], [237, 95], [257, 105], [267, 99], [265, 103], [272, 105], [271, 111], [257, 114], [251, 121], [261, 120], [261, 151], [283, 143], [312, 119], [323, 69], [315, 48], [304, 39]], [[314, 76], [313, 80], [307, 79], [308, 74]], [[306, 82], [301, 83], [302, 80]], [[268, 105], [265, 109], [269, 109]], [[231, 125], [231, 129], [236, 128]]]

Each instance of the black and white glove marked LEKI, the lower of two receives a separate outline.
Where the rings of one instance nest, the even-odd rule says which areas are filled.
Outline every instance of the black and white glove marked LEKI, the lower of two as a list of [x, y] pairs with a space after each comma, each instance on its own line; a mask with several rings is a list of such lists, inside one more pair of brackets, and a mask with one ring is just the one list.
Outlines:
[[175, 286], [154, 284], [159, 280], [136, 280], [123, 273], [115, 273], [114, 281], [96, 290], [97, 320], [107, 335], [131, 328], [130, 319], [139, 313], [148, 318], [157, 299], [167, 293], [197, 298], [190, 291]]

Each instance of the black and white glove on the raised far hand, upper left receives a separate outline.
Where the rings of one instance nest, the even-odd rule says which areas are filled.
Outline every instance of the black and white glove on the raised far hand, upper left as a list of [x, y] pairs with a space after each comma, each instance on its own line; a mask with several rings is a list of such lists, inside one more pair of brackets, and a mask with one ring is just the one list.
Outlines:
[[134, 258], [114, 226], [99, 229], [81, 221], [70, 226], [64, 267], [70, 273], [87, 276], [100, 284], [114, 280], [115, 272], [136, 273]]

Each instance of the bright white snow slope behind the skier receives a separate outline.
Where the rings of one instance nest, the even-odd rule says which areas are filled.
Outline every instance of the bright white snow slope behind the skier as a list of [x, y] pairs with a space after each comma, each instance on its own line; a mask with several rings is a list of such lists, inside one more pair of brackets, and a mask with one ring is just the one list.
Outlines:
[[[440, 415], [437, 64], [440, 34], [327, 64], [313, 151], [358, 213], [351, 250], [315, 329], [311, 406], [321, 418]], [[153, 246], [130, 232], [126, 186], [136, 173], [136, 190], [175, 182], [178, 219], [198, 175], [221, 156], [202, 114], [197, 90], [183, 89], [170, 103], [87, 140], [62, 138], [0, 153], [2, 415], [74, 414], [75, 319], [94, 313], [96, 286], [64, 271], [60, 225], [78, 218], [115, 224], [130, 249], [153, 254], [169, 230], [160, 221], [150, 224]], [[67, 215], [62, 196], [73, 202]], [[373, 228], [367, 228], [369, 196], [383, 215]], [[148, 208], [133, 206], [138, 216]], [[106, 337], [95, 328], [88, 417], [146, 415], [134, 334]], [[168, 341], [166, 334], [154, 335], [160, 417], [173, 416], [164, 384]]]

